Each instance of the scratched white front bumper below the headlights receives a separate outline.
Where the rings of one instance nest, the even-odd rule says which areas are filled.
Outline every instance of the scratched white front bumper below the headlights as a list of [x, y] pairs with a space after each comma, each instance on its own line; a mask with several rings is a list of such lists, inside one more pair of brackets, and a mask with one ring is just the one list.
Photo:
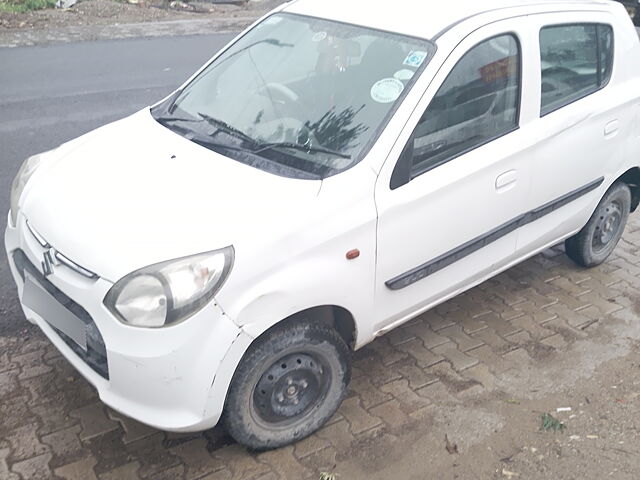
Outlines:
[[[231, 377], [228, 370], [235, 369], [247, 344], [244, 334], [219, 306], [211, 302], [188, 321], [167, 328], [130, 327], [116, 320], [102, 303], [111, 282], [83, 277], [64, 265], [55, 267], [46, 278], [42, 275], [46, 249], [31, 234], [23, 216], [15, 227], [8, 222], [5, 248], [25, 316], [94, 385], [105, 404], [168, 431], [203, 430], [218, 422], [228, 388], [226, 379]], [[14, 255], [16, 252], [19, 255]], [[66, 310], [73, 310], [76, 317], [83, 317], [83, 310], [88, 320], [81, 320], [94, 323], [98, 337], [95, 331], [88, 334], [84, 349], [61, 332], [59, 328], [64, 327], [47, 319], [46, 309], [34, 307], [41, 315], [25, 305], [24, 266], [17, 266], [14, 260], [20, 255], [24, 255], [29, 268], [37, 270], [27, 276], [27, 282], [45, 284], [47, 291], [53, 292], [52, 298]], [[53, 315], [53, 309], [51, 312]], [[94, 353], [100, 350], [97, 338], [103, 341], [106, 357], [102, 371], [86, 355], [92, 352], [92, 346]]]

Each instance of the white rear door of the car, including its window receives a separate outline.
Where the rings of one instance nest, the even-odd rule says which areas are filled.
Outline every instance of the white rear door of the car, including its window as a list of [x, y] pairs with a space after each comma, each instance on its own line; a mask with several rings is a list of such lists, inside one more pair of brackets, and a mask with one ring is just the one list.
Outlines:
[[582, 228], [624, 161], [634, 118], [628, 87], [616, 82], [614, 20], [607, 12], [531, 17], [539, 45], [532, 59], [538, 146], [519, 254]]

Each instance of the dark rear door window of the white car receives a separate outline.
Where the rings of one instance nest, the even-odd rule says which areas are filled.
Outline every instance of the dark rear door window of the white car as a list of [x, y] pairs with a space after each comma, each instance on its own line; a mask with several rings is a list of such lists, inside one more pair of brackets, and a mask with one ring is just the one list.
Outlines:
[[613, 29], [576, 24], [540, 30], [541, 115], [604, 87], [613, 67]]

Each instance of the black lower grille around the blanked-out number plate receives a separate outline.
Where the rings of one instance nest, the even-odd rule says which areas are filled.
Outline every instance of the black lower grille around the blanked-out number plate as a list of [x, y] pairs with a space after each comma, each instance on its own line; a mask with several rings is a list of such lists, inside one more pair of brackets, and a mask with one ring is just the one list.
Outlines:
[[[31, 263], [22, 250], [18, 249], [13, 252], [13, 262], [23, 280], [25, 279], [25, 271], [27, 271], [56, 301], [69, 310], [79, 321], [84, 323], [87, 338], [86, 351], [56, 327], [53, 325], [50, 326], [76, 355], [84, 360], [96, 373], [108, 380], [109, 366], [107, 364], [107, 349], [100, 330], [98, 330], [91, 315], [89, 315], [82, 306], [74, 302], [53, 283], [47, 280], [33, 263]], [[46, 321], [47, 319], [45, 318], [44, 320]]]

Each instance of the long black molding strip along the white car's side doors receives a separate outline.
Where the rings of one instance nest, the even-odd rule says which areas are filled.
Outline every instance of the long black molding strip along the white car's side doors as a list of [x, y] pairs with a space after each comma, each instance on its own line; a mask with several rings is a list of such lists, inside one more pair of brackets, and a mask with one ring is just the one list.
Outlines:
[[420, 265], [419, 267], [413, 268], [408, 272], [392, 278], [391, 280], [387, 280], [385, 282], [385, 285], [391, 290], [400, 290], [402, 288], [408, 287], [409, 285], [416, 283], [423, 278], [428, 277], [429, 275], [433, 275], [434, 273], [439, 272], [440, 270], [462, 260], [465, 257], [468, 257], [472, 253], [475, 253], [478, 250], [486, 247], [490, 243], [493, 243], [496, 240], [509, 235], [511, 232], [514, 232], [515, 230], [533, 223], [536, 220], [544, 217], [545, 215], [549, 215], [555, 210], [568, 205], [569, 203], [577, 200], [587, 193], [597, 189], [603, 183], [604, 177], [601, 177], [598, 180], [594, 180], [584, 187], [567, 193], [566, 195], [563, 195], [562, 197], [553, 200], [552, 202], [542, 205], [535, 210], [531, 210], [530, 212], [520, 215], [519, 217], [516, 217], [513, 220], [510, 220], [507, 223], [491, 230], [489, 233], [474, 238], [473, 240], [470, 240], [467, 243], [464, 243], [459, 247], [454, 248], [453, 250]]

